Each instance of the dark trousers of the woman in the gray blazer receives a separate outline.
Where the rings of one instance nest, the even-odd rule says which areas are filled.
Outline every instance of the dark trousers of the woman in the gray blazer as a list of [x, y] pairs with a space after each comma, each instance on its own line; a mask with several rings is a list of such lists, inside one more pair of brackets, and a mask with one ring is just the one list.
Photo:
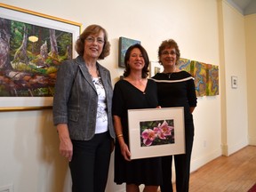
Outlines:
[[92, 140], [72, 140], [73, 158], [69, 163], [72, 192], [104, 192], [108, 181], [111, 138], [108, 132]]

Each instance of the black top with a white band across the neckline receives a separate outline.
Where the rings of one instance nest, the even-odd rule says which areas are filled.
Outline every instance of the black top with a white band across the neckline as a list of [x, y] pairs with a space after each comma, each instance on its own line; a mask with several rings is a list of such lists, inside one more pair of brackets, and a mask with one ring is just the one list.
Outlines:
[[162, 108], [184, 107], [185, 120], [191, 120], [189, 108], [196, 107], [194, 78], [187, 71], [157, 73], [158, 101]]

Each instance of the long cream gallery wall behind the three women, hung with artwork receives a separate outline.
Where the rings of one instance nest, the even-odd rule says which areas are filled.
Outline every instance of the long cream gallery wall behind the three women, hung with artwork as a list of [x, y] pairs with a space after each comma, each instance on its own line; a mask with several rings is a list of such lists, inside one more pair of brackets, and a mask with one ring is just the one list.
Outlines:
[[[118, 68], [119, 36], [140, 40], [150, 60], [157, 60], [161, 41], [173, 38], [180, 45], [182, 58], [219, 65], [220, 69], [220, 95], [198, 98], [194, 112], [196, 132], [191, 171], [248, 144], [248, 124], [255, 128], [256, 122], [252, 117], [255, 108], [247, 106], [252, 102], [255, 107], [251, 95], [255, 98], [256, 93], [247, 87], [249, 81], [255, 82], [255, 73], [246, 76], [246, 58], [247, 54], [255, 53], [248, 53], [245, 43], [250, 42], [256, 29], [246, 39], [244, 16], [226, 1], [1, 0], [1, 3], [82, 23], [83, 29], [93, 23], [106, 28], [111, 53], [100, 63], [110, 70], [113, 85], [124, 70]], [[255, 17], [245, 23], [251, 30]], [[255, 41], [255, 36], [252, 39]], [[249, 49], [253, 46], [250, 44]], [[251, 57], [251, 64], [253, 60]], [[250, 68], [255, 71], [255, 66]], [[231, 89], [230, 76], [238, 76], [236, 90]], [[255, 87], [252, 82], [251, 87]], [[0, 98], [0, 102], [4, 99]], [[4, 188], [11, 188], [12, 192], [70, 191], [68, 162], [59, 155], [52, 110], [1, 112], [0, 121], [0, 192]], [[255, 145], [255, 129], [250, 128], [249, 133]], [[112, 156], [106, 192], [124, 191], [124, 185], [114, 183], [113, 172]]]

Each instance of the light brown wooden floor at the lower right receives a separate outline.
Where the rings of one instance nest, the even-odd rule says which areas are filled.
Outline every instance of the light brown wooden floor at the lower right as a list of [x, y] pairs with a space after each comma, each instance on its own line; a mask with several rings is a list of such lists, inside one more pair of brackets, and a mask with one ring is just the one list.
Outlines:
[[247, 146], [192, 172], [189, 192], [247, 192], [255, 183], [256, 146]]

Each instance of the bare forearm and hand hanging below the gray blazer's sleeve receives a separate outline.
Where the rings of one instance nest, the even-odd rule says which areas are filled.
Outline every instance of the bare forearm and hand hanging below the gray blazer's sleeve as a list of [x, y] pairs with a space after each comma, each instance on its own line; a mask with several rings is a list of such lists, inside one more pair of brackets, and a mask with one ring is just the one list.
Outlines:
[[73, 144], [69, 137], [68, 124], [58, 124], [57, 130], [60, 138], [60, 155], [68, 158], [70, 162], [73, 156]]

